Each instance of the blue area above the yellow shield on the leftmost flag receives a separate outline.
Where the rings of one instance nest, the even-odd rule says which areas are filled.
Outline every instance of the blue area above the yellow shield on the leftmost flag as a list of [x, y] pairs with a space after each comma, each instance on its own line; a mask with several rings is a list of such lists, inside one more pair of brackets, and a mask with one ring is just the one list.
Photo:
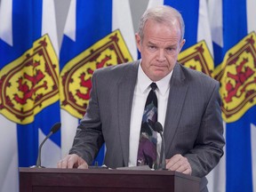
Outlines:
[[12, 0], [13, 46], [0, 39], [0, 68], [19, 58], [41, 36], [43, 0]]

